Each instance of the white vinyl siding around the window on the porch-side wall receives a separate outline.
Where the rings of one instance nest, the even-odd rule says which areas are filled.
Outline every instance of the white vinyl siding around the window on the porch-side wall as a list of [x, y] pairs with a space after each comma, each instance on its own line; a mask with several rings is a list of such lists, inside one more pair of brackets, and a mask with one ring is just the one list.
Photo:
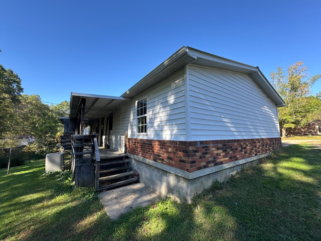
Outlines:
[[[136, 130], [135, 102], [146, 96], [147, 133], [141, 135]], [[132, 101], [121, 109], [121, 131], [127, 131], [128, 138], [185, 141], [184, 69], [132, 98]]]

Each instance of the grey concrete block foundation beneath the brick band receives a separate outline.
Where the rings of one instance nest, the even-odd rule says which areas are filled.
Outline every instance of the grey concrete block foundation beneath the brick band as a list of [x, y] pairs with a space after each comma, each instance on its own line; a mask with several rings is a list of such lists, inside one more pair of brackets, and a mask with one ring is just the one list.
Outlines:
[[195, 194], [209, 188], [213, 181], [227, 181], [232, 174], [245, 166], [254, 165], [259, 159], [269, 153], [237, 160], [195, 172], [186, 172], [162, 163], [154, 162], [143, 157], [128, 154], [131, 166], [140, 175], [140, 182], [150, 187], [162, 197], [177, 201], [192, 202]]

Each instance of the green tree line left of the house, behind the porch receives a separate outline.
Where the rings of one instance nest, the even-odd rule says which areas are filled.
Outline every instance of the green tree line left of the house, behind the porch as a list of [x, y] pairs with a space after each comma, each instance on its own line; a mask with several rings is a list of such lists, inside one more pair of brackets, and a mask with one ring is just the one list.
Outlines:
[[19, 136], [32, 136], [29, 152], [56, 152], [63, 127], [58, 117], [69, 115], [69, 101], [48, 105], [39, 95], [22, 94], [22, 81], [0, 65], [0, 147], [17, 147]]

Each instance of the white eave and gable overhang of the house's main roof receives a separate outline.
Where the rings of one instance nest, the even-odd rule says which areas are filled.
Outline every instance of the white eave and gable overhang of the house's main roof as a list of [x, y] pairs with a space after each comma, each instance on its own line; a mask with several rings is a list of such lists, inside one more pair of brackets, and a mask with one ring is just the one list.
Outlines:
[[157, 82], [169, 77], [187, 64], [213, 67], [222, 70], [234, 71], [248, 74], [258, 86], [270, 97], [276, 106], [284, 106], [285, 102], [265, 78], [258, 67], [250, 66], [230, 59], [209, 54], [191, 47], [182, 47], [171, 57], [158, 65], [129, 90], [123, 93], [122, 97], [132, 98], [143, 90], [153, 86]]

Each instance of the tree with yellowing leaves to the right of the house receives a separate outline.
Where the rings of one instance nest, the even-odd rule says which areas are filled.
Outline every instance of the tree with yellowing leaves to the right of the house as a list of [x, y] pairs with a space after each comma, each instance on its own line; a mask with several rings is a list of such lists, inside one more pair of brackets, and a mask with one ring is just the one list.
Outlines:
[[320, 95], [312, 96], [311, 87], [321, 75], [310, 77], [303, 62], [297, 62], [287, 69], [287, 76], [281, 67], [270, 74], [271, 82], [286, 103], [279, 108], [280, 128], [303, 127], [316, 121], [321, 113]]

